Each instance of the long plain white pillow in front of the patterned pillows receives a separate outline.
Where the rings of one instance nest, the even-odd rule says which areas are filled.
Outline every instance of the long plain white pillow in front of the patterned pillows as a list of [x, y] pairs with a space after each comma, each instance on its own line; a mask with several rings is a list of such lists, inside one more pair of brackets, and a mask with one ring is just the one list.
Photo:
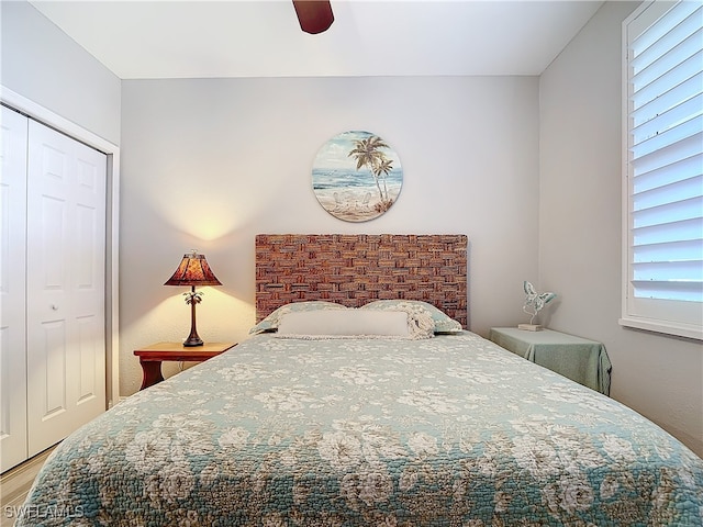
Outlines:
[[403, 311], [325, 310], [286, 313], [279, 335], [386, 336], [409, 338], [408, 313]]

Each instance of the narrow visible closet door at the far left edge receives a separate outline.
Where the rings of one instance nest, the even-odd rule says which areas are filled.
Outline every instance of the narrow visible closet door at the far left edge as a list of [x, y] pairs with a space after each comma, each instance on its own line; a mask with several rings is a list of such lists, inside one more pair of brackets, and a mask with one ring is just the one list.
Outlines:
[[0, 114], [0, 471], [26, 446], [25, 218], [27, 119]]

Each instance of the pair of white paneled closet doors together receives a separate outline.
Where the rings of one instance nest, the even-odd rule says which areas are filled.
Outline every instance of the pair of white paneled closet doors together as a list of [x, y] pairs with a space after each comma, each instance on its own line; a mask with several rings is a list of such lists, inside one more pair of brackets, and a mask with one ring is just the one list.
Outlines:
[[105, 410], [107, 156], [0, 111], [0, 471]]

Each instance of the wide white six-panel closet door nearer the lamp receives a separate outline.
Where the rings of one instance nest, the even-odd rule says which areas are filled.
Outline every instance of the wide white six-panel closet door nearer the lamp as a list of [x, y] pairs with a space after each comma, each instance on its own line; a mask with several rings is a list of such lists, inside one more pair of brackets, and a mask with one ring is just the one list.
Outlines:
[[107, 157], [30, 121], [29, 455], [105, 410]]

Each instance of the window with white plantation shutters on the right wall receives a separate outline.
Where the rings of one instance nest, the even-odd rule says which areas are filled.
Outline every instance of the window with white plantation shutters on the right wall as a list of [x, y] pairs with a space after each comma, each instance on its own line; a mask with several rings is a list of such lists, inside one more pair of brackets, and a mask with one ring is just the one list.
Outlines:
[[[621, 324], [703, 339], [703, 4], [645, 2], [623, 23]], [[626, 201], [626, 203], [625, 203]]]

